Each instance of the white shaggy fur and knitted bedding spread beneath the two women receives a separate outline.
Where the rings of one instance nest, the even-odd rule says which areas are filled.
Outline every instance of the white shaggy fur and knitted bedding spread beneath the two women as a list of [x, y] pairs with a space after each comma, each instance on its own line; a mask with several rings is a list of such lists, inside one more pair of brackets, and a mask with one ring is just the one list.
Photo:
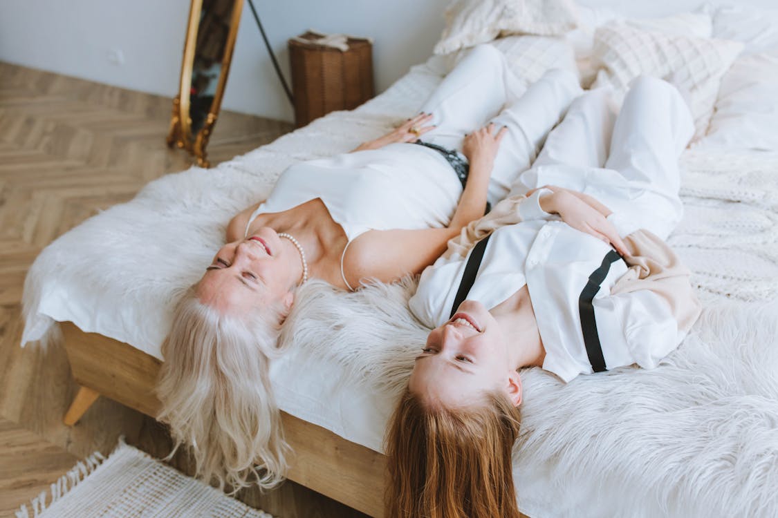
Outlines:
[[[152, 182], [58, 238], [26, 280], [23, 342], [68, 320], [159, 358], [172, 301], [201, 276], [230, 217], [290, 163], [352, 149], [415, 113], [437, 65], [216, 169]], [[530, 516], [778, 514], [778, 156], [689, 152], [684, 163], [686, 217], [671, 245], [694, 272], [703, 318], [653, 371], [567, 385], [524, 371], [514, 474]], [[405, 308], [410, 290], [303, 287], [282, 336], [289, 349], [272, 366], [280, 408], [382, 450], [426, 336]]]

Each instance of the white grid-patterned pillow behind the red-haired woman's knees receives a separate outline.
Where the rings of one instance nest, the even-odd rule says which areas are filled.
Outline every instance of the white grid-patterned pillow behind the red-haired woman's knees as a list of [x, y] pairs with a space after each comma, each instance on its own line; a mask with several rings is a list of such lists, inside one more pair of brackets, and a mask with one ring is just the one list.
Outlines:
[[710, 122], [722, 76], [742, 43], [673, 36], [613, 23], [594, 33], [594, 62], [601, 70], [594, 87], [611, 85], [623, 95], [639, 75], [664, 78], [688, 94], [696, 137]]

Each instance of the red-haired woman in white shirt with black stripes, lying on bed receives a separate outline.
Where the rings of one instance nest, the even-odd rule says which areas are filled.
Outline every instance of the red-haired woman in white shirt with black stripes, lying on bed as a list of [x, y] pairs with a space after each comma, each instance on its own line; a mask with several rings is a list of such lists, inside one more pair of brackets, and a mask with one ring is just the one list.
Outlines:
[[637, 79], [618, 117], [608, 91], [580, 96], [517, 196], [422, 273], [410, 307], [435, 329], [387, 433], [387, 516], [519, 516], [517, 369], [567, 382], [656, 367], [678, 346], [699, 302], [663, 239], [682, 216], [678, 156], [692, 134], [659, 79]]

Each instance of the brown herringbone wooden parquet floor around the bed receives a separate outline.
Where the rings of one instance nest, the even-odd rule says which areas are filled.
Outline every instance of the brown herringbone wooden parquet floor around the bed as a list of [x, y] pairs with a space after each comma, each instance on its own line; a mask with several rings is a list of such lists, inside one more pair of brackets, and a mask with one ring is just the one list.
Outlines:
[[[130, 200], [150, 180], [193, 162], [184, 151], [165, 145], [170, 108], [168, 98], [0, 63], [4, 516], [47, 489], [76, 457], [95, 450], [108, 454], [121, 435], [156, 457], [170, 452], [163, 426], [107, 398], [100, 398], [78, 425], [63, 425], [76, 391], [64, 350], [19, 347], [24, 276], [40, 250], [97, 211]], [[217, 164], [292, 129], [289, 123], [223, 112], [209, 159]], [[184, 455], [172, 464], [191, 474]], [[282, 518], [364, 516], [293, 482], [265, 494], [245, 490], [239, 498]]]

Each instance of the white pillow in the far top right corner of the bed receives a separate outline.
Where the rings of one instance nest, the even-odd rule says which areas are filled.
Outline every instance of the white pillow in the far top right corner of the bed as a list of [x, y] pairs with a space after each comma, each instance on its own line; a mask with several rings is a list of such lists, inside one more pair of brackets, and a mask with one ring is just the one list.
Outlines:
[[778, 50], [778, 9], [708, 4], [703, 10], [713, 16], [714, 38], [742, 41], [744, 54]]

